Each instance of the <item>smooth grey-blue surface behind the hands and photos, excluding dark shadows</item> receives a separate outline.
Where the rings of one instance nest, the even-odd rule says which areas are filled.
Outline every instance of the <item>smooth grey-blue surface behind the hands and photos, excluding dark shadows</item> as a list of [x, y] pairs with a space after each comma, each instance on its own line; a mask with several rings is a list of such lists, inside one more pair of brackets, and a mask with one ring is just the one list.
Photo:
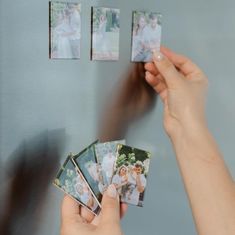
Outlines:
[[[163, 14], [163, 44], [191, 57], [209, 77], [207, 116], [235, 178], [235, 1], [80, 0], [81, 60], [48, 59], [48, 1], [0, 2], [1, 168], [23, 138], [65, 128], [65, 152], [97, 134], [98, 114], [130, 61], [132, 10]], [[121, 9], [120, 60], [92, 62], [90, 7]], [[129, 207], [125, 234], [195, 235], [175, 156], [162, 126], [162, 104], [130, 127], [127, 142], [153, 153], [143, 209]], [[51, 186], [38, 234], [58, 234], [62, 193]]]

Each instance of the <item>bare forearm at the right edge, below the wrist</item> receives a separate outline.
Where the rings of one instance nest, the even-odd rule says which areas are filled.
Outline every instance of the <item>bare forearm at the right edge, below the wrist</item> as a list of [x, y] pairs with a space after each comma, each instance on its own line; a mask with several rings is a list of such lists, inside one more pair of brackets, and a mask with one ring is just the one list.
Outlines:
[[235, 234], [235, 186], [206, 127], [172, 140], [200, 235]]

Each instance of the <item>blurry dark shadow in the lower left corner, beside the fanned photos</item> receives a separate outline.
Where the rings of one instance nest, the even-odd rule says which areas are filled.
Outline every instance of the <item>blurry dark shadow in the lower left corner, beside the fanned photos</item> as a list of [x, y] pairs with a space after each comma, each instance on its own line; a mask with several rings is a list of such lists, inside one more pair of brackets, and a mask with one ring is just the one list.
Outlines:
[[9, 157], [9, 184], [0, 198], [0, 234], [35, 233], [64, 143], [64, 129], [44, 131], [24, 140]]

